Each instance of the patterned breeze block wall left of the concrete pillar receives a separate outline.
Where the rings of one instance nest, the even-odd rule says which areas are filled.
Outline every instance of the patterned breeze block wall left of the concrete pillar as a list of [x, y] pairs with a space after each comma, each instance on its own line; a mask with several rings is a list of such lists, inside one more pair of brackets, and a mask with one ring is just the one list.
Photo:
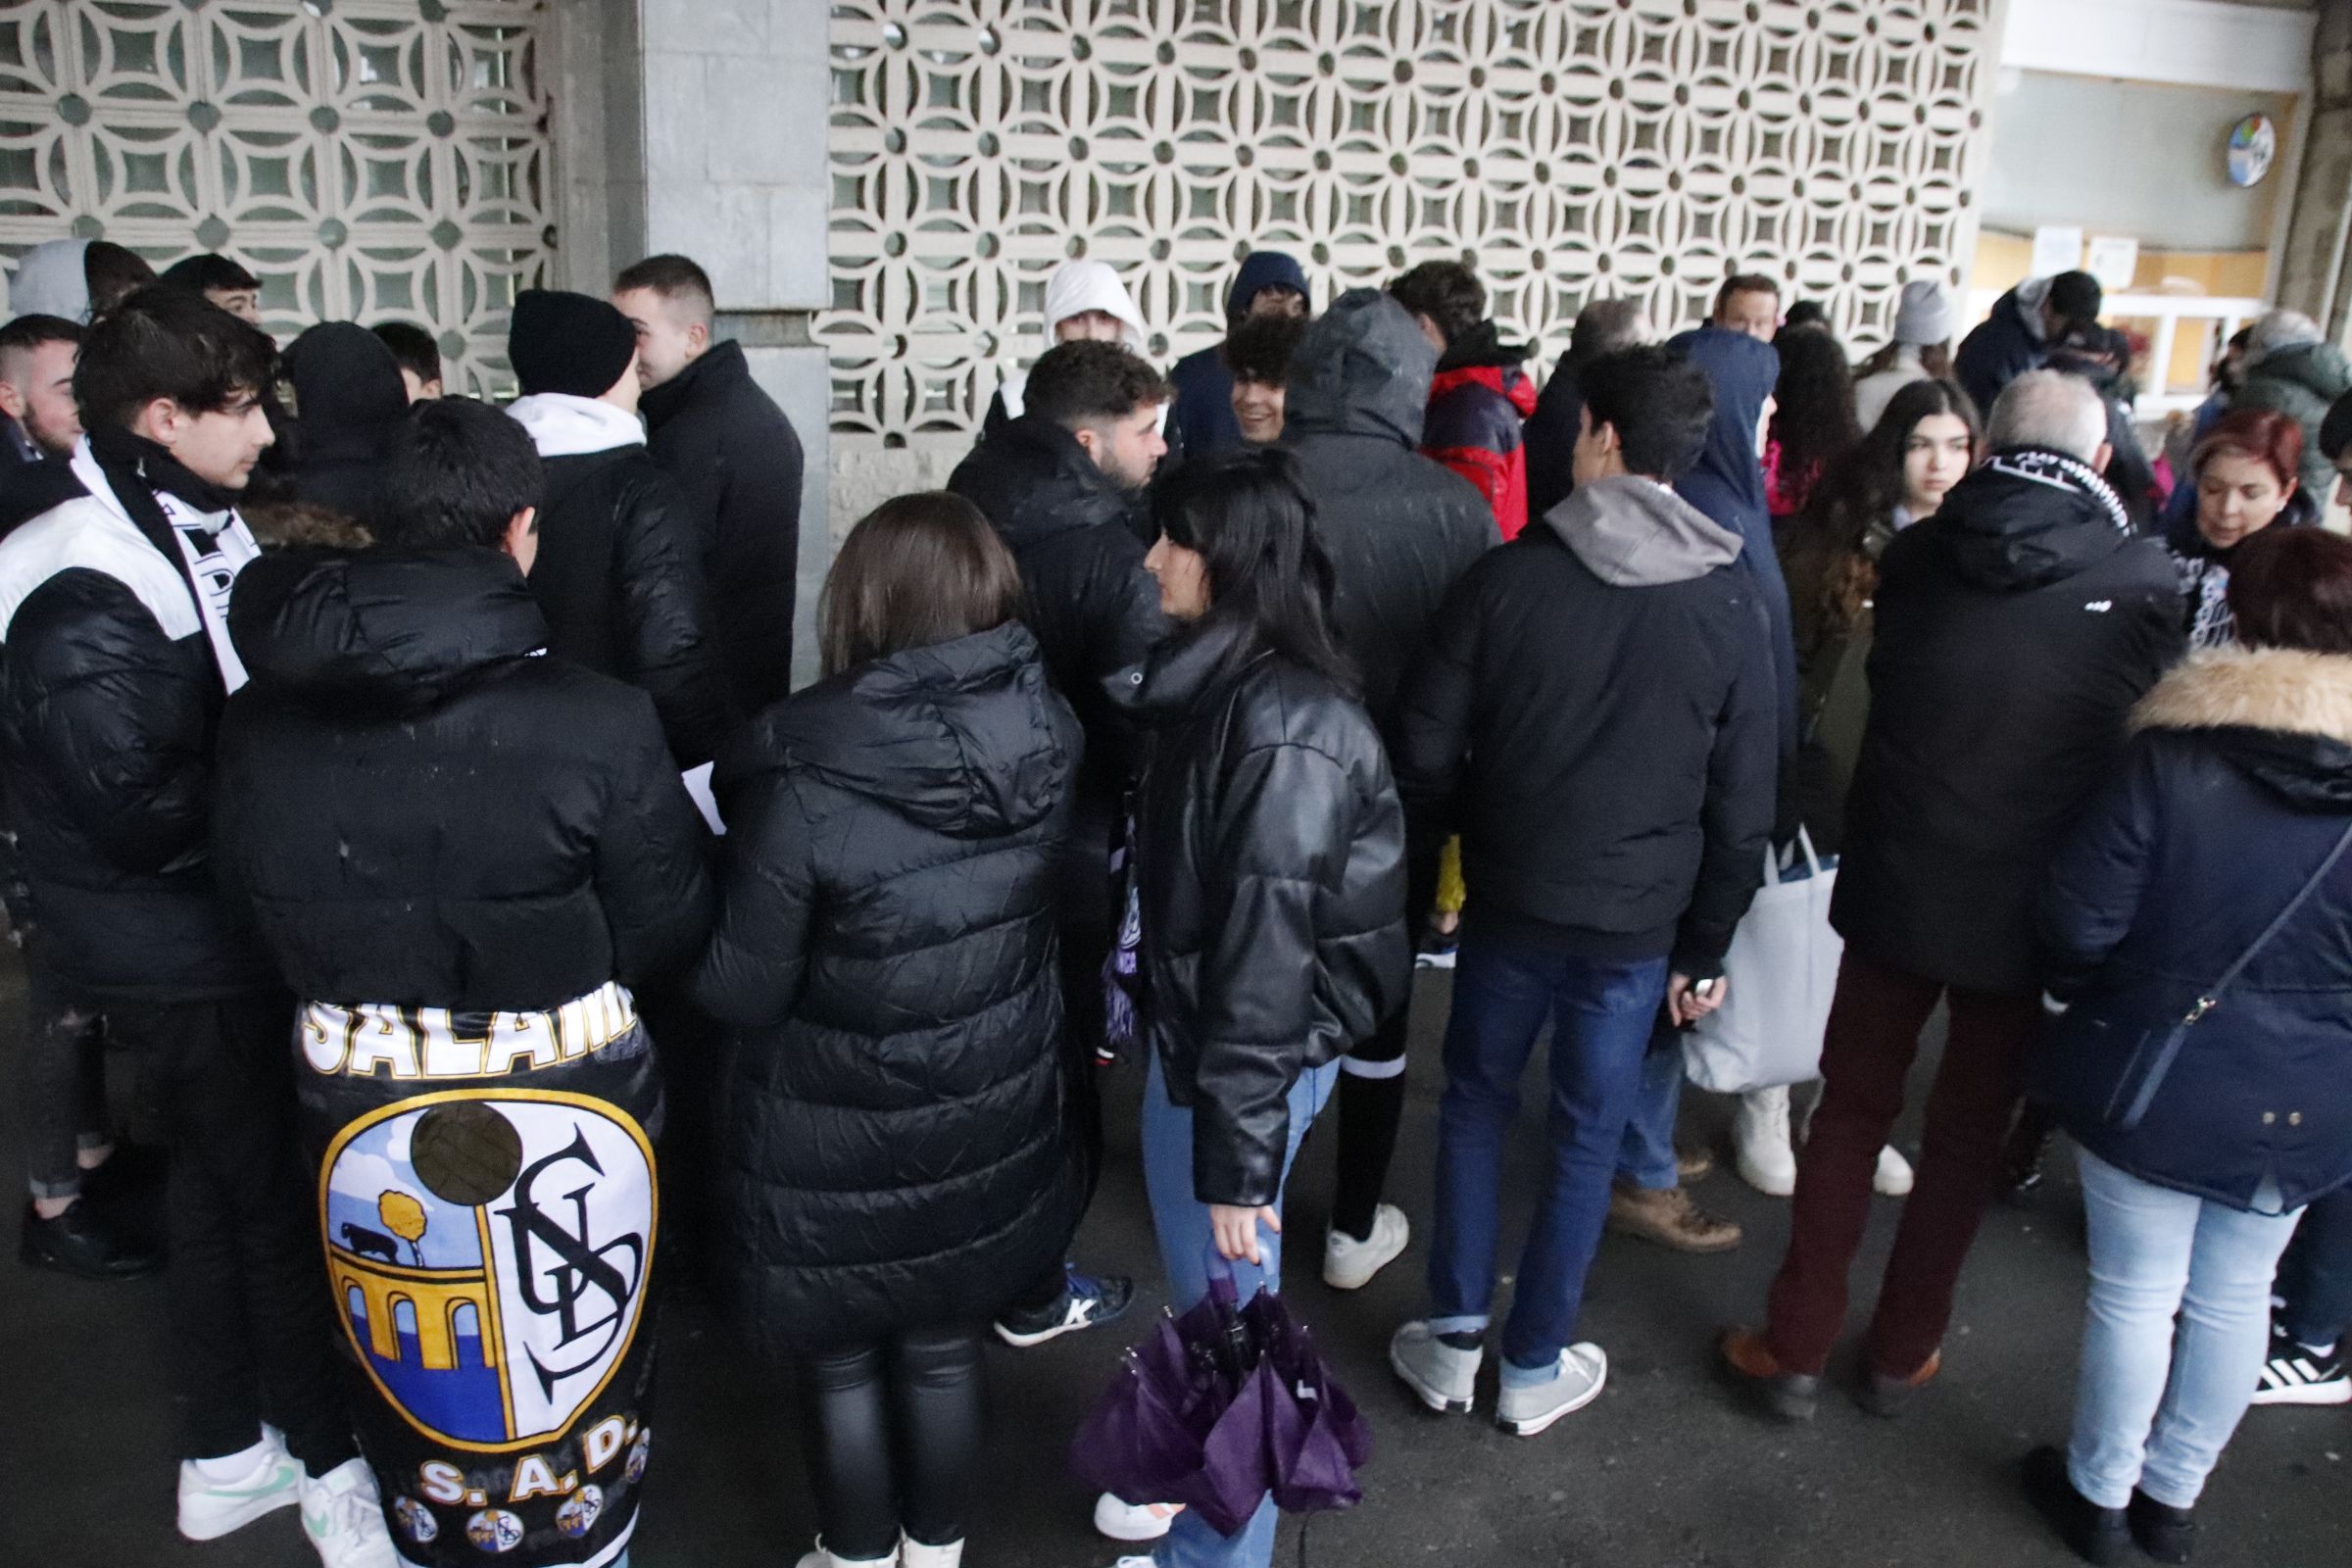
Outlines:
[[0, 254], [66, 235], [263, 280], [320, 320], [440, 334], [452, 390], [506, 378], [506, 310], [553, 249], [541, 0], [9, 0]]

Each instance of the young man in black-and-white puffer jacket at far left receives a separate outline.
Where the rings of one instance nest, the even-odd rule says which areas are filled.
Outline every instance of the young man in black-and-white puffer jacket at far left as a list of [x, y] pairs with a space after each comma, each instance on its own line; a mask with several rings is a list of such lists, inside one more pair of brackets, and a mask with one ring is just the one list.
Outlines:
[[299, 1502], [329, 1568], [390, 1568], [381, 1514], [350, 1502], [372, 1486], [301, 1197], [294, 1009], [207, 860], [216, 719], [245, 684], [228, 585], [259, 552], [235, 503], [275, 378], [270, 339], [202, 296], [146, 289], [89, 329], [80, 494], [0, 543], [0, 783], [35, 959], [139, 1051], [172, 1154], [181, 1533]]

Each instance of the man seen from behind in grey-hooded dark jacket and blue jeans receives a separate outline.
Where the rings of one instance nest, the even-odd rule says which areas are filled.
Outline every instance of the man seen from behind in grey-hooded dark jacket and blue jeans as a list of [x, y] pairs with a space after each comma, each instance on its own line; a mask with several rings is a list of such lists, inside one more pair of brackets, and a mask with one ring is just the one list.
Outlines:
[[1715, 390], [1670, 348], [1604, 355], [1581, 383], [1576, 489], [1454, 588], [1406, 677], [1397, 752], [1414, 809], [1461, 823], [1477, 898], [1446, 1023], [1430, 1316], [1388, 1359], [1432, 1410], [1472, 1408], [1503, 1133], [1550, 1023], [1550, 1178], [1496, 1401], [1517, 1436], [1609, 1378], [1571, 1338], [1651, 1025], [1661, 1006], [1677, 1025], [1722, 1006], [1773, 816], [1773, 665], [1740, 536], [1668, 489]]

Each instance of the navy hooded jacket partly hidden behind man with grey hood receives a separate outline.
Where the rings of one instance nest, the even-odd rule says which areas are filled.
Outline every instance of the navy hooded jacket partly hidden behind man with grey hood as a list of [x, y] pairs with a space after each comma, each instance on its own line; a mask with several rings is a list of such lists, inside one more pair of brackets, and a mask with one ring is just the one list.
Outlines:
[[1780, 381], [1780, 355], [1771, 343], [1712, 322], [1684, 331], [1668, 348], [1679, 348], [1715, 383], [1708, 444], [1691, 473], [1675, 480], [1675, 491], [1705, 512], [1708, 522], [1740, 536], [1740, 567], [1755, 578], [1771, 635], [1785, 762], [1797, 755], [1797, 635], [1790, 625], [1788, 578], [1780, 576], [1780, 557], [1771, 545], [1764, 461], [1757, 456], [1757, 423], [1764, 418], [1764, 400]]

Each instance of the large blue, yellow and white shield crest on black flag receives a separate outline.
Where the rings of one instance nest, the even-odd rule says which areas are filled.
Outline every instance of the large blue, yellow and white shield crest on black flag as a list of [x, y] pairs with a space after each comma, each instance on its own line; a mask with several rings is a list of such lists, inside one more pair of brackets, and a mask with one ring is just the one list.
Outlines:
[[[320, 1173], [336, 1316], [402, 1418], [456, 1448], [564, 1432], [628, 1354], [654, 1150], [607, 1100], [454, 1091], [343, 1128]], [[510, 1514], [475, 1514], [475, 1526]]]

